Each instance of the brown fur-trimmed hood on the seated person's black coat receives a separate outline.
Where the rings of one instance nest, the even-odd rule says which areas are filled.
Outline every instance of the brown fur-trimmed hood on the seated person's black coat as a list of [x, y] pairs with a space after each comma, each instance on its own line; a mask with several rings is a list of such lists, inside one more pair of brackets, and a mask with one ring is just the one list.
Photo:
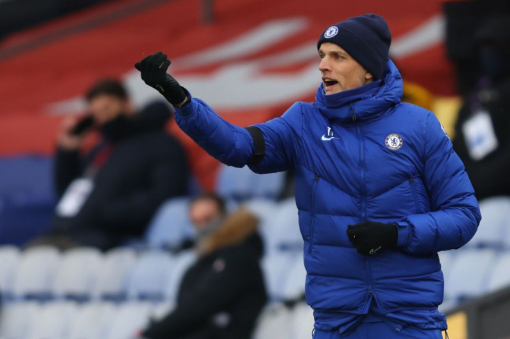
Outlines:
[[261, 257], [262, 241], [256, 234], [257, 226], [258, 219], [247, 210], [240, 209], [229, 215], [216, 232], [200, 243], [200, 252], [207, 255], [220, 248], [247, 244], [256, 250], [258, 257]]

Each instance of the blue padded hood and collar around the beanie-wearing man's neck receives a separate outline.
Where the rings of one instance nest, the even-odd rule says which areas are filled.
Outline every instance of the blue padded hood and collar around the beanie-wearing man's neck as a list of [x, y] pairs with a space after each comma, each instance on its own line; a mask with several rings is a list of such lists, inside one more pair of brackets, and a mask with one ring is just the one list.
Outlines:
[[395, 64], [388, 59], [383, 78], [356, 89], [326, 95], [324, 84], [315, 94], [319, 111], [329, 120], [349, 122], [377, 118], [401, 102], [403, 82]]

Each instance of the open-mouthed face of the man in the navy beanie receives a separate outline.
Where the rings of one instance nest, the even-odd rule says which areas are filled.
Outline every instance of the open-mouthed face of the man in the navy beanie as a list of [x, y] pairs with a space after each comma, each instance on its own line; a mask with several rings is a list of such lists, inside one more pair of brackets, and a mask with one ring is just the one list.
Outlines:
[[337, 44], [324, 42], [319, 48], [324, 92], [334, 94], [355, 89], [372, 81], [372, 75]]

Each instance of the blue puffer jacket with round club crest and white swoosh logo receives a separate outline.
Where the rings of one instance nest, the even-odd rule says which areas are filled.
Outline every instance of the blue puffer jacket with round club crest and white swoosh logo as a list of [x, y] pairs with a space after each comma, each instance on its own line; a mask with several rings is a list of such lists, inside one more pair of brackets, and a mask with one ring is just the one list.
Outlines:
[[[251, 169], [295, 172], [306, 300], [318, 329], [342, 331], [367, 313], [373, 297], [400, 327], [446, 328], [437, 311], [443, 300], [437, 252], [466, 244], [480, 210], [437, 118], [401, 96], [401, 75], [389, 61], [382, 80], [333, 95], [321, 85], [316, 102], [297, 102], [256, 125], [266, 154]], [[175, 120], [227, 165], [242, 167], [252, 155], [247, 131], [201, 100], [177, 109]], [[398, 247], [360, 255], [346, 228], [364, 220], [398, 223]]]

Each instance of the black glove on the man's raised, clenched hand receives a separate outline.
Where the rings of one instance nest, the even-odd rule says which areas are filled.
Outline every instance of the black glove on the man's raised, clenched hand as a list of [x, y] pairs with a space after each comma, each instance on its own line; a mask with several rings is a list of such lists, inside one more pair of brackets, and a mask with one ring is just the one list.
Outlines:
[[161, 52], [144, 57], [141, 62], [134, 64], [134, 68], [141, 73], [141, 79], [170, 102], [170, 104], [182, 104], [186, 99], [186, 93], [182, 90], [179, 82], [166, 73], [170, 66], [170, 60]]

